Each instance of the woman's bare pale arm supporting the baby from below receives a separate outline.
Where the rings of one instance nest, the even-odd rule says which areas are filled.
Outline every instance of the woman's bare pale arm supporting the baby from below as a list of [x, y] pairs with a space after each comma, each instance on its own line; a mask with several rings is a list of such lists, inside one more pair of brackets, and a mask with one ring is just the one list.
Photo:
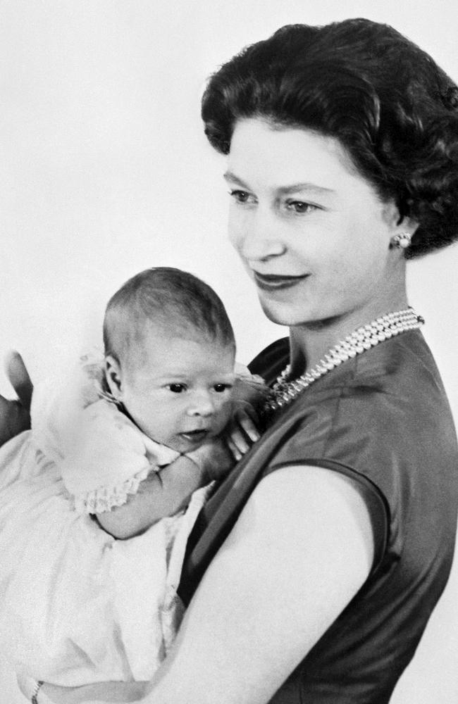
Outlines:
[[[142, 702], [266, 704], [372, 561], [369, 512], [350, 479], [321, 467], [273, 472], [211, 562]], [[78, 696], [111, 701], [103, 685], [97, 697], [84, 688]], [[66, 703], [60, 693], [56, 701]]]

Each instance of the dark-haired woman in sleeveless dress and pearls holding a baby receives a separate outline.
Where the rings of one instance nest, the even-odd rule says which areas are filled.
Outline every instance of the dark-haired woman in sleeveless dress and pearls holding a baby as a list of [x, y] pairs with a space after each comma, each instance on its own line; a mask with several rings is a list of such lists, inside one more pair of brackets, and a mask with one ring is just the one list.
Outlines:
[[144, 701], [383, 704], [414, 654], [450, 572], [458, 450], [405, 265], [457, 238], [457, 93], [368, 20], [284, 27], [209, 82], [230, 239], [290, 338], [252, 363], [267, 429], [194, 531]]

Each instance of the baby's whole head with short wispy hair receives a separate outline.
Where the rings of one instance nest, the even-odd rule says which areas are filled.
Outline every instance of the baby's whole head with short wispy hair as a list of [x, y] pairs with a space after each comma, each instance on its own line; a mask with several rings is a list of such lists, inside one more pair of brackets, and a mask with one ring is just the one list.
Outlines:
[[231, 413], [235, 339], [220, 298], [179, 269], [147, 269], [108, 303], [106, 384], [149, 436], [187, 452]]

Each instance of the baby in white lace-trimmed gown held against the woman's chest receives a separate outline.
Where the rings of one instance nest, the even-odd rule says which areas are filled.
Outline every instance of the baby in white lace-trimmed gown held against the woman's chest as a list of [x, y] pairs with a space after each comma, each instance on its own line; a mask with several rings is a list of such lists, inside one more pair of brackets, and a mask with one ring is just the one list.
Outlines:
[[104, 346], [34, 394], [32, 430], [0, 451], [0, 647], [61, 686], [151, 679], [211, 481], [259, 437], [262, 380], [235, 375], [223, 303], [196, 277], [130, 279]]

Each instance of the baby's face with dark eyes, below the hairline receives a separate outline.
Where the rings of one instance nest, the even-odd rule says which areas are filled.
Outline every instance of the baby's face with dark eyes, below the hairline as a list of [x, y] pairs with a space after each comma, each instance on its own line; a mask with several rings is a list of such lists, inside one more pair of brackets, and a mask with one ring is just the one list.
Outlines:
[[122, 369], [122, 400], [151, 439], [179, 452], [218, 435], [231, 414], [234, 351], [151, 327]]

